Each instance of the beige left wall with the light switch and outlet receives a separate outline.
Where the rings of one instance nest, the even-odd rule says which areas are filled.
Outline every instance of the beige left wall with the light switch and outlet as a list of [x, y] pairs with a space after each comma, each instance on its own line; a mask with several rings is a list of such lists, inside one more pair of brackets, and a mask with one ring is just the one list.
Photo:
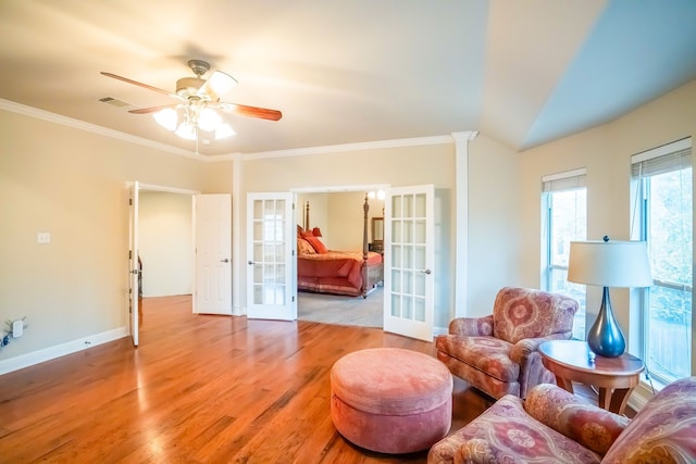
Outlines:
[[206, 190], [210, 166], [5, 111], [0, 127], [0, 319], [28, 324], [0, 361], [122, 329], [125, 183]]

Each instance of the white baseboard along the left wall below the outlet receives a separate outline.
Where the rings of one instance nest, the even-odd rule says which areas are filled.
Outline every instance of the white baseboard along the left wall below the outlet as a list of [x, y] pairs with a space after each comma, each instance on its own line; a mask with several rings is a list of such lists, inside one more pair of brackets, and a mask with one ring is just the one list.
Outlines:
[[18, 356], [10, 358], [8, 360], [2, 360], [0, 361], [0, 375], [54, 360], [66, 354], [84, 351], [98, 344], [117, 340], [126, 337], [127, 335], [128, 330], [126, 327], [120, 327], [113, 330], [102, 331], [101, 334], [79, 338], [77, 340], [67, 341], [65, 343], [55, 344], [53, 347], [44, 348], [30, 353], [20, 354]]

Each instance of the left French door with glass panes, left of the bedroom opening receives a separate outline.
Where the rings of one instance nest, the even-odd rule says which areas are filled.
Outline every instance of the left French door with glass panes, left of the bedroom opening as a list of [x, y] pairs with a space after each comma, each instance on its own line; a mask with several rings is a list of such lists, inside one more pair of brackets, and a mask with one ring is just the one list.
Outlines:
[[247, 196], [247, 317], [297, 318], [293, 193]]

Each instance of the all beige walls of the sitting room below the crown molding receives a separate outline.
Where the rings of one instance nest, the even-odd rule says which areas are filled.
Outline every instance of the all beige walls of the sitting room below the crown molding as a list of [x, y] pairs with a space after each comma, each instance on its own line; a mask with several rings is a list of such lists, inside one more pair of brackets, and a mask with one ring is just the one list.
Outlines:
[[[465, 234], [455, 229], [453, 143], [199, 162], [4, 111], [0, 127], [11, 135], [0, 138], [0, 318], [26, 315], [29, 324], [22, 339], [0, 351], [1, 362], [125, 326], [126, 180], [213, 193], [232, 192], [239, 179], [239, 211], [233, 211], [239, 223], [247, 192], [434, 184], [435, 326], [446, 327], [455, 314], [455, 244], [467, 236], [464, 312], [485, 314], [499, 287], [539, 286], [542, 176], [586, 167], [589, 238], [629, 237], [629, 158], [696, 135], [696, 81], [614, 122], [523, 153], [478, 135], [463, 167]], [[37, 244], [39, 231], [50, 233], [51, 243]], [[235, 244], [246, 243], [245, 227], [237, 234]], [[237, 260], [244, 260], [240, 250]], [[588, 297], [592, 313], [598, 292]], [[612, 291], [612, 300], [629, 326], [627, 292]]]

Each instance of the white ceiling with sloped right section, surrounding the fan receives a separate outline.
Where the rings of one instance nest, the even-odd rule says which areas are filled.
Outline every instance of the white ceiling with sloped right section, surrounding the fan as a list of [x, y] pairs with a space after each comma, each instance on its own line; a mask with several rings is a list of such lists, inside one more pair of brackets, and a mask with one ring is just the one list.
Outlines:
[[[240, 115], [202, 154], [478, 130], [524, 150], [696, 78], [694, 0], [0, 0], [0, 99], [195, 151], [149, 115], [203, 59]], [[112, 97], [129, 103], [102, 103]]]

